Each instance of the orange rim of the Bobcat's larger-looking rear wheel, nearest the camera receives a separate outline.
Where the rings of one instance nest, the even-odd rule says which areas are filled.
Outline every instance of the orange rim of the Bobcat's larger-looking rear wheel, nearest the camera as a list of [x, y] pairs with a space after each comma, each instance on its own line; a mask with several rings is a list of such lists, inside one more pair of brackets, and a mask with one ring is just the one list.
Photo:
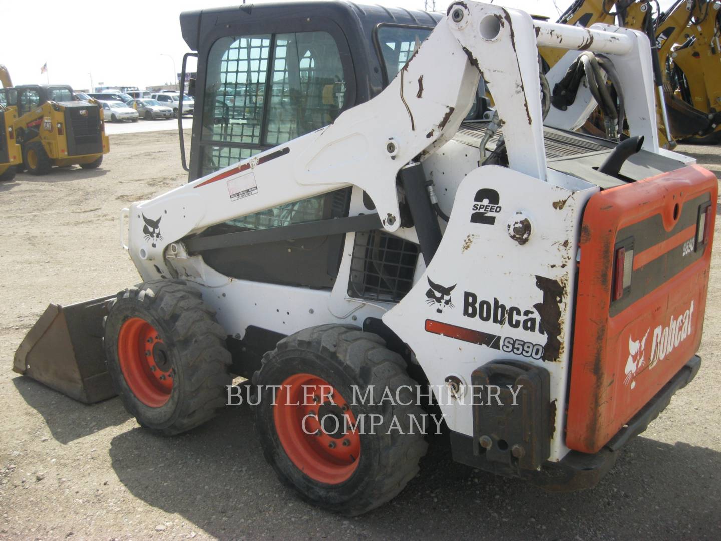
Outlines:
[[361, 435], [355, 415], [324, 379], [288, 377], [276, 392], [273, 421], [288, 458], [309, 478], [337, 485], [358, 469]]

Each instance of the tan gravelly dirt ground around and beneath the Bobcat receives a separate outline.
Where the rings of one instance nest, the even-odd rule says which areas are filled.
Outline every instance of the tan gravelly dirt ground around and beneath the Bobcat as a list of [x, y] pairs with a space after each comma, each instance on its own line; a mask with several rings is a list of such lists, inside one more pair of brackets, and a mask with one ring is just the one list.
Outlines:
[[[580, 493], [544, 493], [455, 464], [434, 441], [400, 496], [346, 519], [280, 485], [246, 406], [168, 439], [141, 429], [117, 398], [82, 405], [14, 374], [15, 348], [48, 302], [138, 281], [120, 249], [120, 209], [185, 182], [173, 131], [110, 142], [102, 169], [0, 185], [0, 538], [721, 538], [718, 248], [698, 377], [597, 488]], [[681, 151], [721, 177], [721, 147]]]

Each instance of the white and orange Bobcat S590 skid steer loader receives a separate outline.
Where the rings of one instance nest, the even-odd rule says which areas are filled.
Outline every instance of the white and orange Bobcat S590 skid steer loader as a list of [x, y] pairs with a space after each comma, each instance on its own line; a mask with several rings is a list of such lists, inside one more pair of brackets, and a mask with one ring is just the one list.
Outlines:
[[[190, 182], [121, 214], [143, 281], [48, 307], [16, 371], [117, 392], [164, 435], [248, 377], [280, 479], [345, 514], [402, 491], [436, 422], [463, 464], [592, 487], [694, 378], [717, 180], [658, 145], [645, 34], [476, 1], [180, 23]], [[572, 131], [596, 107], [583, 86], [544, 121], [539, 45], [566, 50], [551, 84], [606, 55], [629, 138]], [[465, 121], [481, 76], [498, 117]]]

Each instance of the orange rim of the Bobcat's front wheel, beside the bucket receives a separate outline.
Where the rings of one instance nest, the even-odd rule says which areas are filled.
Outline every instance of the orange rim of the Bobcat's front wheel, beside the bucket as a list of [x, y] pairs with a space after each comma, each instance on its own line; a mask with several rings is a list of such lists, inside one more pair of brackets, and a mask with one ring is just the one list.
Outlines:
[[118, 333], [120, 371], [133, 395], [150, 408], [167, 403], [174, 369], [158, 331], [141, 317], [131, 317]]

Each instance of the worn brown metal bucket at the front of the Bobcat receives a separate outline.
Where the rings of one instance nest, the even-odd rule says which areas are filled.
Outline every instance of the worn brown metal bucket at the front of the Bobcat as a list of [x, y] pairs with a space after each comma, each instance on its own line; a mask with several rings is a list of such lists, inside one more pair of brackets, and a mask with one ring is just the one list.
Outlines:
[[15, 351], [12, 369], [86, 404], [114, 397], [102, 347], [112, 298], [48, 304]]

